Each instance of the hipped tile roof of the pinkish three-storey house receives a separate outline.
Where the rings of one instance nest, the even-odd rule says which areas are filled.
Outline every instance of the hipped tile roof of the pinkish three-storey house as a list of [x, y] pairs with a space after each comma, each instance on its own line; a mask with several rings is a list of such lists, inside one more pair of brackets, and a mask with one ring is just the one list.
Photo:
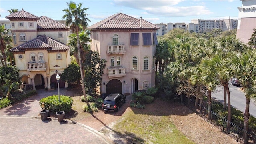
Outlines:
[[159, 29], [160, 27], [142, 18], [137, 19], [123, 13], [114, 14], [88, 27], [88, 29], [129, 29], [129, 28]]

